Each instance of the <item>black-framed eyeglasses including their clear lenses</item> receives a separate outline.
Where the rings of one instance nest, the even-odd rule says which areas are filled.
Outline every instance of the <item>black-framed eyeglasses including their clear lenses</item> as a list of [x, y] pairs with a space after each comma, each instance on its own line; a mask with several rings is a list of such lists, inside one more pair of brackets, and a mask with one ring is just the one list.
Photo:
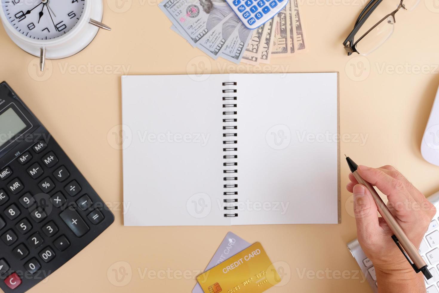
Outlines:
[[[373, 21], [371, 22], [371, 19], [379, 19], [377, 17], [381, 17], [381, 15], [384, 14], [382, 9], [375, 11], [381, 2], [382, 0], [371, 0], [366, 7], [364, 7], [363, 11], [361, 11], [360, 16], [358, 16], [355, 22], [354, 29], [343, 42], [348, 55], [353, 52], [367, 55], [375, 51], [392, 35], [396, 22], [396, 12], [401, 8], [408, 11], [413, 10], [417, 4], [419, 4], [420, 0], [401, 0], [394, 11], [381, 18], [371, 27], [371, 23], [374, 23]], [[369, 21], [367, 22], [368, 19]], [[363, 33], [365, 29], [368, 30]], [[360, 37], [354, 40], [356, 35]]]

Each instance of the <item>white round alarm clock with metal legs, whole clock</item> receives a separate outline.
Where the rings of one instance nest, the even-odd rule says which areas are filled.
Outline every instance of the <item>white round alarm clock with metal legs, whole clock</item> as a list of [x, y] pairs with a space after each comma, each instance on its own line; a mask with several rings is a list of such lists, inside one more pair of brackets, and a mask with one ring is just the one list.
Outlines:
[[1, 0], [0, 18], [6, 33], [24, 51], [61, 59], [87, 47], [102, 21], [102, 0]]

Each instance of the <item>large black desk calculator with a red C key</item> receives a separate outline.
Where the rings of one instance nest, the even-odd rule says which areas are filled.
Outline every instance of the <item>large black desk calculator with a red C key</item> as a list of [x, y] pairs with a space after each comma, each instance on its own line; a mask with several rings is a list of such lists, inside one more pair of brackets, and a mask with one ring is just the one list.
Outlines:
[[0, 83], [0, 288], [29, 290], [113, 221], [49, 131]]

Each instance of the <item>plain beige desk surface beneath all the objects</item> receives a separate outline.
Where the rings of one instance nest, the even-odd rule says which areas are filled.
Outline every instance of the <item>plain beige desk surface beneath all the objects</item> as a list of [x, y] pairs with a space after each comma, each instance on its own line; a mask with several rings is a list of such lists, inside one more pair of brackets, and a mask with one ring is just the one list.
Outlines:
[[[193, 65], [202, 62], [207, 73], [338, 71], [340, 130], [348, 135], [341, 154], [371, 166], [395, 165], [426, 195], [436, 192], [439, 167], [422, 159], [420, 144], [439, 84], [439, 10], [433, 0], [421, 0], [416, 10], [397, 14], [393, 36], [378, 51], [348, 57], [342, 41], [362, 1], [303, 0], [308, 52], [262, 67], [208, 59], [169, 29], [158, 0], [104, 0], [104, 22], [112, 32], [101, 31], [71, 58], [51, 61], [43, 76], [37, 75], [37, 59], [0, 29], [0, 80], [45, 124], [116, 217], [29, 292], [190, 292], [228, 231], [262, 242], [273, 262], [288, 264], [290, 281], [270, 292], [371, 292], [346, 248], [356, 227], [344, 160], [338, 225], [133, 228], [123, 226], [122, 154], [115, 138], [107, 138], [121, 124], [122, 74], [194, 73]], [[359, 135], [367, 137], [365, 144]], [[308, 271], [309, 277], [303, 275]]]

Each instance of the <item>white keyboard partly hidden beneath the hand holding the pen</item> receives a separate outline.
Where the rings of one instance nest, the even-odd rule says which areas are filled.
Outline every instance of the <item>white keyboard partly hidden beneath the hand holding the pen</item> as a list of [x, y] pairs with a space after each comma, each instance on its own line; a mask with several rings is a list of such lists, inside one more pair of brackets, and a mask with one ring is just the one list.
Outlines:
[[[439, 192], [428, 197], [428, 200], [434, 204], [439, 211]], [[358, 265], [360, 265], [369, 285], [371, 285], [374, 292], [378, 292], [374, 265], [364, 254], [358, 240], [355, 239], [349, 242], [348, 248]], [[422, 239], [421, 246], [419, 246], [419, 253], [421, 253], [421, 256], [428, 264], [428, 271], [430, 271], [433, 276], [433, 278], [429, 280], [424, 278], [427, 293], [439, 293], [439, 212], [435, 214], [435, 217], [433, 217], [433, 220], [428, 226], [428, 231], [425, 233], [424, 239]]]

